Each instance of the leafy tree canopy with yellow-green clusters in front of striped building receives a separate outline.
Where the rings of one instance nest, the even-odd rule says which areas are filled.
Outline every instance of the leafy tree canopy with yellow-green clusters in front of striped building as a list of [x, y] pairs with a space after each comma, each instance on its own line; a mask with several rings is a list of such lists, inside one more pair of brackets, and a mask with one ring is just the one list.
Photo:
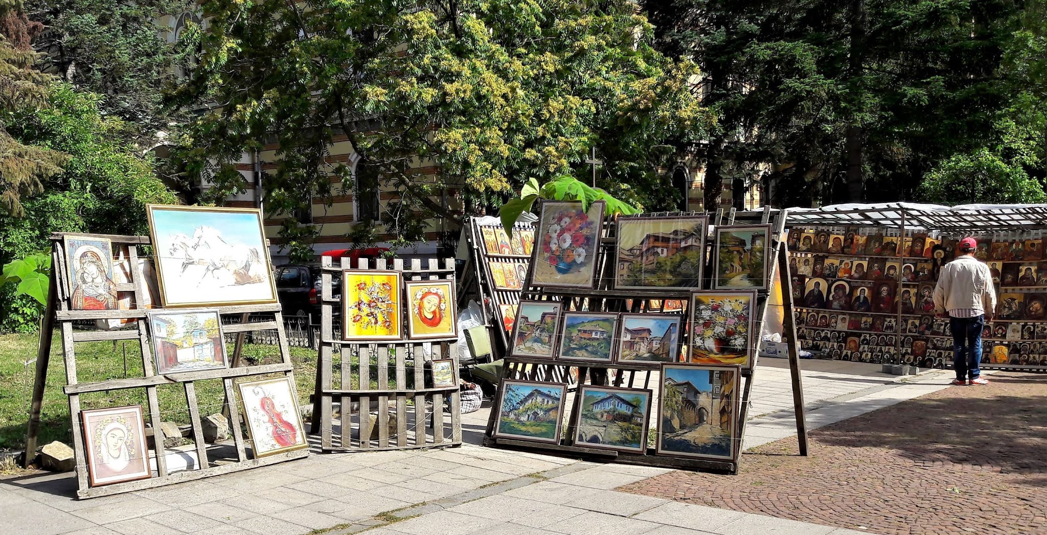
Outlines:
[[[199, 68], [177, 101], [216, 107], [191, 128], [187, 169], [225, 195], [242, 187], [232, 162], [276, 142], [266, 201], [285, 214], [330, 196], [331, 175], [352, 188], [350, 166], [326, 159], [340, 135], [399, 192], [382, 218], [402, 239], [418, 238], [407, 220], [422, 210], [460, 217], [433, 192], [496, 207], [530, 178], [583, 178], [593, 148], [597, 185], [654, 207], [666, 141], [700, 139], [713, 122], [692, 91], [695, 66], [655, 51], [626, 0], [210, 0], [204, 10]], [[304, 231], [288, 220], [282, 236]]]

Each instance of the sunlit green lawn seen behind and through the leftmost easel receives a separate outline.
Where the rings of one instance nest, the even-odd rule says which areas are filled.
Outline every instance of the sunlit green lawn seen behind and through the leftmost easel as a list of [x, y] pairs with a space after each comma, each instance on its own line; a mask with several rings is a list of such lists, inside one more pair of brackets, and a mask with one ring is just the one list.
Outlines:
[[[37, 355], [37, 344], [36, 334], [0, 334], [0, 449], [25, 447], [26, 424], [36, 375], [36, 363], [32, 359]], [[142, 376], [141, 352], [136, 340], [77, 342], [75, 350], [77, 382]], [[233, 344], [226, 343], [229, 358], [232, 350]], [[280, 362], [280, 349], [276, 345], [247, 344], [244, 348], [244, 356], [245, 361], [252, 364], [276, 363]], [[294, 364], [294, 381], [298, 388], [299, 403], [304, 404], [308, 402], [315, 384], [316, 351], [291, 348], [291, 361]], [[374, 373], [372, 371], [372, 374]], [[263, 377], [254, 376], [244, 380]], [[62, 335], [55, 331], [40, 417], [41, 445], [51, 441], [66, 444], [72, 442], [68, 397], [62, 391], [66, 384], [65, 364], [62, 360]], [[225, 398], [222, 381], [217, 379], [197, 381], [195, 385], [200, 416], [221, 413]], [[181, 384], [160, 385], [157, 387], [157, 394], [164, 421], [173, 421], [180, 425], [188, 423], [185, 389]], [[81, 408], [84, 409], [136, 404], [146, 406], [148, 414], [144, 388], [81, 396]]]

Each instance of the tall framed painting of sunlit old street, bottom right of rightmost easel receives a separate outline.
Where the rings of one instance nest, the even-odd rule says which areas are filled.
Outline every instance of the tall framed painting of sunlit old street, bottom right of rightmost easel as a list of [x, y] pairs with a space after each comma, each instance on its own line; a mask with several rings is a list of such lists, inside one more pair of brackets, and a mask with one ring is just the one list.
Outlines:
[[736, 365], [662, 365], [658, 454], [734, 461], [738, 454]]

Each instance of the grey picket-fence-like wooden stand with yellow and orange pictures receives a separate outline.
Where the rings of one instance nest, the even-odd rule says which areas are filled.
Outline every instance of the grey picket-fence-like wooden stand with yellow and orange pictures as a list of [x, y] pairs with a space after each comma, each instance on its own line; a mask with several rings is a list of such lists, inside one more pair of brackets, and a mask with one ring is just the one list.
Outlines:
[[[444, 281], [454, 278], [454, 260], [446, 259], [440, 267], [436, 259], [429, 259], [427, 267], [421, 260], [413, 260], [409, 268], [404, 268], [403, 260], [392, 263], [392, 269], [400, 271], [404, 281]], [[359, 259], [355, 269], [389, 269], [384, 259], [370, 265], [367, 259]], [[373, 451], [384, 449], [408, 449], [426, 447], [447, 447], [462, 444], [461, 391], [455, 384], [450, 387], [425, 387], [425, 364], [427, 360], [454, 359], [458, 370], [458, 338], [426, 341], [373, 342], [340, 340], [340, 333], [334, 332], [334, 306], [340, 306], [341, 297], [332, 291], [332, 278], [341, 277], [342, 269], [352, 269], [349, 259], [341, 259], [340, 266], [334, 266], [330, 257], [321, 259], [321, 306], [320, 306], [320, 350], [316, 364], [316, 391], [313, 394], [312, 432], [318, 430], [320, 449], [327, 451]], [[344, 291], [344, 289], [343, 289]], [[406, 314], [403, 315], [406, 318]], [[406, 319], [405, 319], [406, 321]], [[464, 334], [462, 334], [464, 336]], [[339, 384], [334, 383], [334, 355], [340, 354], [338, 363]], [[426, 358], [426, 354], [430, 358]], [[357, 361], [353, 363], [353, 357]], [[394, 365], [395, 384], [389, 384], [389, 358]], [[372, 363], [374, 357], [374, 363]], [[375, 369], [375, 375], [372, 375]], [[353, 372], [357, 376], [354, 379]], [[408, 372], [411, 380], [408, 381]], [[371, 378], [376, 377], [377, 386], [371, 386]], [[455, 377], [458, 377], [455, 375]], [[444, 398], [449, 400], [449, 422], [445, 422]], [[372, 404], [372, 400], [374, 405]], [[396, 432], [389, 433], [389, 403], [395, 411]], [[339, 432], [334, 434], [333, 404], [338, 400], [340, 418]], [[410, 413], [407, 401], [413, 400], [415, 424], [407, 426]], [[355, 407], [354, 407], [355, 405]], [[427, 417], [426, 407], [431, 407]], [[377, 440], [371, 440], [374, 432], [371, 413], [377, 410], [375, 424], [378, 425]], [[357, 438], [353, 438], [353, 414], [357, 416]], [[445, 425], [449, 423], [450, 437], [446, 437]], [[408, 432], [408, 430], [410, 432]], [[428, 434], [427, 430], [431, 430]], [[334, 437], [338, 440], [334, 441]]]

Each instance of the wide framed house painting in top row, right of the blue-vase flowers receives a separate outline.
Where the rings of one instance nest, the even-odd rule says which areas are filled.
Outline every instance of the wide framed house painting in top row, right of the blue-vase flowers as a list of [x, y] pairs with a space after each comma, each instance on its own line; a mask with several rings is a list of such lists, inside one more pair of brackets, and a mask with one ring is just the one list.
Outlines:
[[615, 288], [701, 288], [708, 222], [706, 216], [619, 218]]

